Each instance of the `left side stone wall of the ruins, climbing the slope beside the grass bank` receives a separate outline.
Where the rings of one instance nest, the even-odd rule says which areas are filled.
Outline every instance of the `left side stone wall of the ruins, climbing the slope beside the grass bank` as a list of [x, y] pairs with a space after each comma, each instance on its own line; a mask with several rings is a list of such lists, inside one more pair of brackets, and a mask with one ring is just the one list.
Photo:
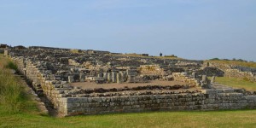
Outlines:
[[18, 66], [20, 73], [32, 84], [32, 88], [38, 94], [46, 96], [54, 107], [62, 112], [64, 109], [60, 105], [60, 100], [63, 92], [72, 90], [72, 87], [66, 81], [61, 81], [52, 77], [50, 72], [45, 68], [40, 67], [35, 61], [25, 60], [23, 57], [12, 58]]

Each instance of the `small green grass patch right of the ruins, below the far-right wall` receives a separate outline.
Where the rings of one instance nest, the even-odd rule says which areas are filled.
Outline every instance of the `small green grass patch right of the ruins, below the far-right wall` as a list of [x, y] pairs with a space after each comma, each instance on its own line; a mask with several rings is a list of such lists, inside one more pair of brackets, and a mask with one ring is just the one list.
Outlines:
[[216, 78], [216, 82], [226, 84], [234, 88], [244, 88], [246, 90], [256, 90], [256, 82], [250, 82], [244, 79], [233, 79], [227, 77]]

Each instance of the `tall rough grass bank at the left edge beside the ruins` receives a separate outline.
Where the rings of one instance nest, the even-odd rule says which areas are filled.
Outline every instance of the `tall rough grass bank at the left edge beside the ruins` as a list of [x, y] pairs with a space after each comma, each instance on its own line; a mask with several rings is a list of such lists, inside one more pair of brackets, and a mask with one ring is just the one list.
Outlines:
[[24, 86], [20, 85], [18, 79], [10, 73], [6, 67], [15, 69], [13, 62], [0, 57], [0, 104], [8, 110], [9, 113], [19, 113], [21, 109], [26, 108], [26, 91]]

